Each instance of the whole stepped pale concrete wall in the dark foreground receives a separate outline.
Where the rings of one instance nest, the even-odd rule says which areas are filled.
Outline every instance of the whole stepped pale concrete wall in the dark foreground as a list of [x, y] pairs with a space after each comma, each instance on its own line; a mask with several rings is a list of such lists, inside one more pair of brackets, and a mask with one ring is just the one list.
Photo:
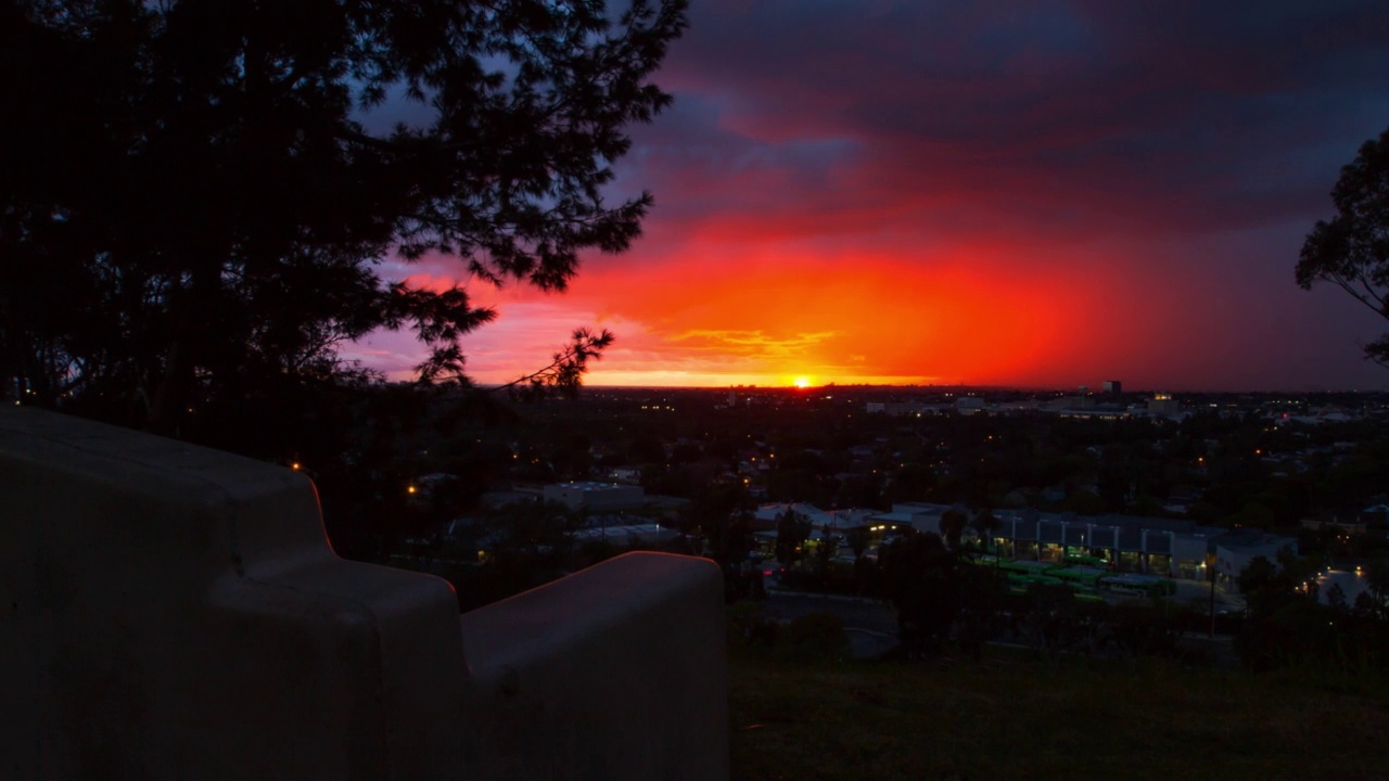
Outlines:
[[724, 778], [722, 632], [661, 554], [460, 621], [300, 474], [0, 411], [4, 778]]

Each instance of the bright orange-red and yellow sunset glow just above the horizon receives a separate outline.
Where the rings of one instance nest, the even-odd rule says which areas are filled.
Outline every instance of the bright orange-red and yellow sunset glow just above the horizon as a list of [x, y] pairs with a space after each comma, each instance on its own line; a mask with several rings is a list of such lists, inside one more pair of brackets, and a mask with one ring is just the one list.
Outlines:
[[[618, 339], [593, 364], [589, 385], [1003, 385], [1036, 375], [1067, 349], [1095, 295], [1086, 286], [1100, 283], [1029, 275], [986, 249], [931, 265], [890, 253], [721, 254], [739, 270], [735, 277], [711, 277], [703, 254], [689, 252], [585, 270], [564, 295], [469, 283], [479, 304], [500, 313], [469, 338], [469, 372], [506, 382], [542, 365], [568, 329], [592, 324]], [[454, 281], [407, 278], [435, 288]]]

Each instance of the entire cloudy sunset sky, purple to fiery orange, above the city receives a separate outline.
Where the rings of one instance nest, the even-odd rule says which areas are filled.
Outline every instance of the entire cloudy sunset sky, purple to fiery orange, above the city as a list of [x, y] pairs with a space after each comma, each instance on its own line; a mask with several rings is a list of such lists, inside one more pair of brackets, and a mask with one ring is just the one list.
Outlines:
[[[589, 385], [1383, 389], [1389, 324], [1301, 290], [1389, 126], [1389, 3], [694, 0], [618, 170], [644, 236], [571, 289], [467, 282], [485, 384], [579, 325]], [[390, 272], [390, 267], [386, 270]], [[1357, 309], [1358, 307], [1358, 309]], [[350, 352], [400, 377], [408, 334]]]

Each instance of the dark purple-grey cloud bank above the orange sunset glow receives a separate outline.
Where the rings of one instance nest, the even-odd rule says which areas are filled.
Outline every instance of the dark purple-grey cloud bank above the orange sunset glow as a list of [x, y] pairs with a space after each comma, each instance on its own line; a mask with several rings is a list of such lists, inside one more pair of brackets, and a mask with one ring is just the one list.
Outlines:
[[[1389, 121], [1389, 4], [696, 3], [663, 82], [685, 107], [642, 140], [672, 220], [1246, 228], [1314, 213]], [[746, 186], [681, 195], [721, 181]]]

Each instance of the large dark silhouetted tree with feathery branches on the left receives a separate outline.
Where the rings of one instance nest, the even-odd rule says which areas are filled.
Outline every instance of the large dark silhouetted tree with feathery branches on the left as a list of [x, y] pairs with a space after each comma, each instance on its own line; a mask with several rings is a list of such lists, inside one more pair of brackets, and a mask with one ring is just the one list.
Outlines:
[[[285, 443], [244, 422], [336, 425], [314, 420], [324, 388], [371, 379], [338, 347], [374, 329], [415, 334], [422, 381], [465, 382], [460, 338], [494, 313], [378, 264], [451, 256], [561, 290], [582, 252], [626, 249], [651, 199], [603, 189], [624, 128], [669, 101], [649, 76], [685, 24], [683, 0], [617, 19], [589, 0], [7, 0], [6, 392], [267, 454]], [[374, 126], [394, 111], [411, 121]], [[518, 386], [575, 388], [610, 339], [575, 332]]]

